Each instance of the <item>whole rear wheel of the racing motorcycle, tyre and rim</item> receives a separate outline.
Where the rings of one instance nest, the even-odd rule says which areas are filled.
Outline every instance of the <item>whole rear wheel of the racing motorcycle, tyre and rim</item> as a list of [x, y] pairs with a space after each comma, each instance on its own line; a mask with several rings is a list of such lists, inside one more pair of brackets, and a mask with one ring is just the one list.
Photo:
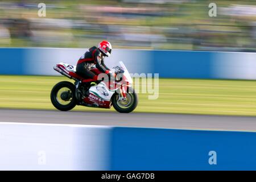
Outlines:
[[52, 88], [51, 101], [56, 109], [67, 111], [76, 106], [76, 88], [71, 82], [61, 81]]

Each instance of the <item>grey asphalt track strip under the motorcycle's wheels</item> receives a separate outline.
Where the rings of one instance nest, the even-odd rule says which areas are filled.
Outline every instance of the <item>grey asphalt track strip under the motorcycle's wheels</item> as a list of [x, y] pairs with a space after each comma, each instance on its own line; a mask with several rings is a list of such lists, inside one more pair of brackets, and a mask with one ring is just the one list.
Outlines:
[[256, 117], [0, 109], [0, 122], [256, 131]]

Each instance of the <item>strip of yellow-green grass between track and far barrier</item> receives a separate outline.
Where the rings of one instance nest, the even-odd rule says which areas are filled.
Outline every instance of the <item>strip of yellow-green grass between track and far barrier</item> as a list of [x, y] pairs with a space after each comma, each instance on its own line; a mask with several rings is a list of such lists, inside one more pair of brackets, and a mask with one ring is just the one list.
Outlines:
[[[55, 109], [49, 95], [63, 76], [0, 76], [0, 107]], [[74, 110], [109, 111], [76, 106]], [[110, 109], [114, 111], [114, 109]], [[256, 115], [256, 81], [160, 79], [159, 97], [139, 94], [137, 112]]]

